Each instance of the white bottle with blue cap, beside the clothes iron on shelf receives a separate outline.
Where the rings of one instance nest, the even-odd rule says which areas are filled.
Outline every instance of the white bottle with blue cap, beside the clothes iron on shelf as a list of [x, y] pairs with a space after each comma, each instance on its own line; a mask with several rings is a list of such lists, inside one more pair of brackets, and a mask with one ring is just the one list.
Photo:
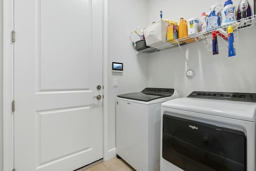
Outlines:
[[236, 21], [236, 6], [233, 5], [232, 0], [227, 0], [224, 4], [224, 8], [221, 12], [222, 22], [221, 25], [224, 26], [230, 22]]

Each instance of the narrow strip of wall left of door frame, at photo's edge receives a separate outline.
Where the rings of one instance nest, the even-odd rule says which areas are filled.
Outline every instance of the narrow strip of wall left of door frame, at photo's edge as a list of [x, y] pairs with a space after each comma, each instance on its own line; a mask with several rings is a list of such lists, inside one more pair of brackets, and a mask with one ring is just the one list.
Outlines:
[[0, 0], [0, 171], [3, 171], [3, 0]]

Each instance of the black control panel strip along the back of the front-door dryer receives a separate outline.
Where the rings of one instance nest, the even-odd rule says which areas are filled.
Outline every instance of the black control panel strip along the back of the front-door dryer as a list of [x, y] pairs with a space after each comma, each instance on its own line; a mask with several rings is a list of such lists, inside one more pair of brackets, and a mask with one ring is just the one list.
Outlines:
[[256, 93], [193, 91], [190, 95], [188, 95], [188, 97], [214, 100], [256, 102]]

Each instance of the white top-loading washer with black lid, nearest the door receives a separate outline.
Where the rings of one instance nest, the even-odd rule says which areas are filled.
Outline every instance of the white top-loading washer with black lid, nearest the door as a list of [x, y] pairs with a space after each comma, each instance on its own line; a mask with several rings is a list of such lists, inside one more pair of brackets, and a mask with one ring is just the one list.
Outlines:
[[160, 170], [161, 103], [174, 89], [145, 88], [116, 98], [116, 153], [137, 171]]

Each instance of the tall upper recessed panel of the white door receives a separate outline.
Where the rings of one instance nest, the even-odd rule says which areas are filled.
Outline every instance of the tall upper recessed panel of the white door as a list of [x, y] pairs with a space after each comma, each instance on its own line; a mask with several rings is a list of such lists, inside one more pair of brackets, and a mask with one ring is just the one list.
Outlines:
[[38, 1], [40, 90], [89, 89], [89, 7], [88, 0]]

